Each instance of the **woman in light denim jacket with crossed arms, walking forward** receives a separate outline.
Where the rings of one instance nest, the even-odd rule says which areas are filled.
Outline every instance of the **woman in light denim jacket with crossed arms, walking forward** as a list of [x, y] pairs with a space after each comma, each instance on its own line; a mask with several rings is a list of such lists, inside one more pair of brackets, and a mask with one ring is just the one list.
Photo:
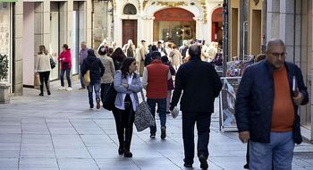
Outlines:
[[136, 73], [136, 59], [123, 59], [121, 70], [115, 72], [114, 89], [117, 92], [113, 109], [116, 132], [120, 143], [118, 153], [124, 157], [132, 157], [131, 136], [135, 112], [139, 103], [137, 93], [142, 90], [140, 75]]

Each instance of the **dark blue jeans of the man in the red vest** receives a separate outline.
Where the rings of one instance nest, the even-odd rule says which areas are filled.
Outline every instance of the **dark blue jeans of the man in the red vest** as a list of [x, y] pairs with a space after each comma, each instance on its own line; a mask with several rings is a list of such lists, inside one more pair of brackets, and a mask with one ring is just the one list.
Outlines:
[[[153, 99], [153, 98], [148, 98], [147, 99], [148, 106], [151, 109], [151, 114], [153, 117], [156, 117], [156, 106], [158, 110], [158, 115], [160, 116], [160, 122], [161, 122], [161, 127], [166, 127], [166, 98], [162, 99]], [[156, 133], [157, 132], [157, 125], [155, 124], [154, 126], [150, 127], [150, 133]]]

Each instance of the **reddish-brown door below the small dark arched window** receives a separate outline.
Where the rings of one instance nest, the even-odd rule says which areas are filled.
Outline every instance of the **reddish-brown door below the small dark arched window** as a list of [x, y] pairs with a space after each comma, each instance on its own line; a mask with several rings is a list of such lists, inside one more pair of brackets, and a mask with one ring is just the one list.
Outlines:
[[123, 20], [123, 45], [127, 44], [128, 39], [137, 43], [137, 20]]

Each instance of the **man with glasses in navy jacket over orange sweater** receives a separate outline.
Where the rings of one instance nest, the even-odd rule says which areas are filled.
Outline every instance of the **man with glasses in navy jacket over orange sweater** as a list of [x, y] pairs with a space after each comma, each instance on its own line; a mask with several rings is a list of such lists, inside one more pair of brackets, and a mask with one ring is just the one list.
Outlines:
[[285, 51], [281, 39], [270, 40], [266, 60], [247, 68], [237, 91], [235, 117], [241, 141], [250, 140], [250, 169], [271, 170], [274, 162], [274, 169], [291, 170], [294, 143], [301, 140], [297, 111], [309, 95]]

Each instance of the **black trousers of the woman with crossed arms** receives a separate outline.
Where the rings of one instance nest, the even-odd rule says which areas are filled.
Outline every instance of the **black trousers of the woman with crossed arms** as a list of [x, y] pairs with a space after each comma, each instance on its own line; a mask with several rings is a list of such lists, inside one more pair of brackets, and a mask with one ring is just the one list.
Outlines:
[[124, 146], [124, 149], [129, 151], [131, 149], [132, 127], [135, 120], [135, 112], [132, 109], [132, 105], [125, 110], [114, 108], [113, 115], [120, 147]]

